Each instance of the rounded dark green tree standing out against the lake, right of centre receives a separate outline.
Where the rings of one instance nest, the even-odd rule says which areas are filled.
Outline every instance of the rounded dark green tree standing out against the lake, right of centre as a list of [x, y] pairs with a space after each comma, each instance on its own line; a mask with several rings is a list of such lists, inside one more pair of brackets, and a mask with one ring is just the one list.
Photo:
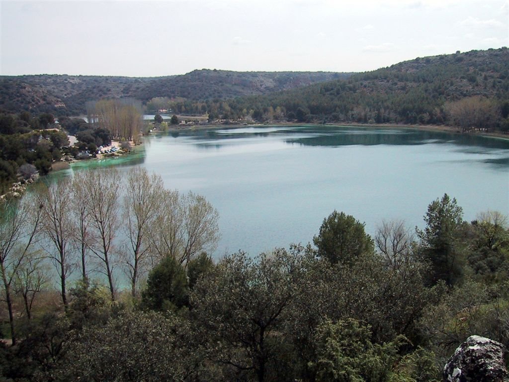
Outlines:
[[362, 255], [374, 252], [373, 239], [364, 232], [364, 224], [344, 212], [334, 211], [324, 219], [313, 242], [318, 256], [332, 264], [352, 264]]

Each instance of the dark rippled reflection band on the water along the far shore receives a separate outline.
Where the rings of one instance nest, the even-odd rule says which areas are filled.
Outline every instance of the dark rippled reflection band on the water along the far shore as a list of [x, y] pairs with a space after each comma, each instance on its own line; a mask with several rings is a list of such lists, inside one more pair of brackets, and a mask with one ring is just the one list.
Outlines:
[[[179, 135], [173, 135], [178, 138]], [[162, 137], [158, 137], [162, 138]], [[185, 142], [197, 149], [218, 151], [232, 146], [267, 145], [284, 142], [287, 145], [310, 147], [341, 146], [418, 146], [430, 144], [454, 145], [459, 152], [468, 154], [500, 155], [509, 149], [509, 140], [454, 132], [426, 131], [407, 128], [345, 127], [345, 126], [268, 126], [185, 131]], [[281, 148], [281, 147], [280, 147]], [[260, 150], [254, 150], [260, 151]], [[506, 166], [507, 161], [498, 157], [479, 159], [485, 163]]]

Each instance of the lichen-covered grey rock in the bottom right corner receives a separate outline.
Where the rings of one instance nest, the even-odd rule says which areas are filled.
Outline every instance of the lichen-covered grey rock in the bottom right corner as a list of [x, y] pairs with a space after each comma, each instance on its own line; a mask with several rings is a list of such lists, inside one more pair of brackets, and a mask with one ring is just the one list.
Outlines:
[[470, 336], [444, 367], [447, 382], [509, 382], [504, 345], [486, 337]]

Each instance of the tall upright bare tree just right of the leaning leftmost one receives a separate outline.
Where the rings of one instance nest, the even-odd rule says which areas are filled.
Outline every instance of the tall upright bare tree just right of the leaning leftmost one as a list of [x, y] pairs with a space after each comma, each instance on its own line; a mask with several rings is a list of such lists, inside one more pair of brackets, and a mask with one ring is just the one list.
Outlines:
[[53, 248], [45, 251], [60, 277], [62, 303], [67, 308], [66, 281], [71, 272], [71, 244], [73, 236], [72, 182], [62, 179], [49, 187], [42, 186], [37, 199], [42, 208], [41, 230]]

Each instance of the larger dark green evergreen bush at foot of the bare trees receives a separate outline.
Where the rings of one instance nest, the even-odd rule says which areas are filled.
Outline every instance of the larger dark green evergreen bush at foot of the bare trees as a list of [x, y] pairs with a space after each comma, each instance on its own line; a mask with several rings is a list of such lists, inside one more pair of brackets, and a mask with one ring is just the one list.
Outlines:
[[189, 288], [184, 267], [173, 256], [164, 257], [149, 273], [142, 306], [157, 311], [177, 311], [187, 306]]

